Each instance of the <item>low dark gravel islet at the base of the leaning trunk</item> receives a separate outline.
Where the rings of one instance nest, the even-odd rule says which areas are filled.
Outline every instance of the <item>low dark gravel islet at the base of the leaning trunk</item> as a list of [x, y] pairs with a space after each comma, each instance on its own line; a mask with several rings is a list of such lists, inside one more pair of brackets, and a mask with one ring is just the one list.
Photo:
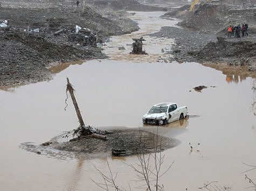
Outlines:
[[[56, 155], [67, 155], [71, 153], [90, 154], [91, 158], [102, 157], [102, 154], [112, 155], [112, 150], [125, 150], [125, 156], [137, 155], [141, 153], [151, 153], [156, 149], [157, 152], [175, 146], [175, 140], [167, 137], [150, 133], [149, 131], [138, 129], [111, 130], [112, 134], [107, 134], [107, 141], [98, 138], [80, 138], [77, 141], [61, 142], [63, 135], [52, 138], [51, 141], [43, 145], [33, 143], [22, 143], [21, 148], [37, 154], [56, 157]], [[160, 146], [161, 145], [161, 146]], [[56, 150], [56, 151], [54, 151]], [[60, 151], [63, 151], [60, 152]]]

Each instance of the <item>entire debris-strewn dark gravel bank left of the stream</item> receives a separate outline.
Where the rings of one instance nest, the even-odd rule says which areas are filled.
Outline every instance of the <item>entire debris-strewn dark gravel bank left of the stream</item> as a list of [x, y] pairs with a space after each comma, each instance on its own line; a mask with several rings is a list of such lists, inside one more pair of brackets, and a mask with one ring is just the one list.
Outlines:
[[[51, 79], [52, 64], [105, 58], [96, 43], [109, 35], [139, 30], [124, 13], [105, 18], [89, 7], [81, 12], [67, 1], [62, 5], [15, 2], [4, 1], [0, 8], [0, 21], [8, 20], [9, 26], [0, 28], [0, 86]], [[75, 33], [75, 25], [87, 29]], [[39, 32], [31, 32], [36, 28]], [[63, 31], [54, 34], [59, 30]]]

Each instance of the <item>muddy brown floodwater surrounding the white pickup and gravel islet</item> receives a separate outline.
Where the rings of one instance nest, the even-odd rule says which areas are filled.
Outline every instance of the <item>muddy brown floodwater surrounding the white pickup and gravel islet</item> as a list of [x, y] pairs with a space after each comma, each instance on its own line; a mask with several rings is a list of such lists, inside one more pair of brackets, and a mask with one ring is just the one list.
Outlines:
[[[137, 17], [142, 19], [139, 23], [155, 20], [166, 26], [171, 22], [158, 18], [160, 14], [139, 12]], [[145, 26], [143, 22], [141, 28]], [[147, 25], [142, 31], [147, 27], [152, 29]], [[127, 36], [119, 38], [127, 39]], [[122, 46], [115, 41], [110, 43]], [[162, 45], [158, 46], [157, 40], [155, 43], [155, 52], [161, 55]], [[112, 54], [111, 50], [106, 52]], [[92, 164], [107, 172], [104, 155], [87, 159], [59, 151], [59, 156], [64, 157], [58, 158], [19, 148], [20, 143], [43, 143], [78, 126], [71, 100], [64, 111], [66, 77], [74, 85], [86, 123], [102, 129], [122, 126], [154, 131], [154, 127], [143, 126], [141, 121], [151, 105], [173, 101], [188, 106], [191, 115], [188, 120], [159, 129], [164, 136], [179, 141], [177, 146], [164, 151], [163, 168], [175, 160], [160, 180], [165, 190], [198, 190], [207, 181], [218, 181], [219, 186], [232, 185], [233, 190], [250, 186], [241, 172], [249, 169], [243, 163], [256, 165], [253, 79], [240, 78], [237, 74], [226, 76], [197, 63], [157, 63], [154, 61], [157, 54], [148, 60], [141, 57], [135, 61], [122, 54], [121, 58], [113, 56], [108, 60], [70, 65], [63, 71], [56, 69], [58, 74], [50, 82], [0, 91], [0, 189], [101, 190], [91, 181], [103, 182]], [[198, 85], [209, 88], [196, 92], [192, 88]], [[144, 190], [135, 188], [141, 183], [131, 181], [136, 173], [123, 164], [123, 161], [136, 163], [136, 156], [108, 158], [108, 161], [119, 174], [119, 185], [129, 189], [129, 182], [132, 190]], [[256, 178], [256, 171], [247, 175]]]

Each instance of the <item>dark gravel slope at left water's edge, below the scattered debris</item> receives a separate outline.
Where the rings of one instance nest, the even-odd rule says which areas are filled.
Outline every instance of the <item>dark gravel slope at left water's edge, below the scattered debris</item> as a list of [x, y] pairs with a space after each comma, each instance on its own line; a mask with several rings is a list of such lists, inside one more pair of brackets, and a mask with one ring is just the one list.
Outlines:
[[0, 85], [21, 85], [51, 79], [47, 70], [54, 62], [105, 58], [91, 46], [52, 43], [47, 33], [0, 31]]

